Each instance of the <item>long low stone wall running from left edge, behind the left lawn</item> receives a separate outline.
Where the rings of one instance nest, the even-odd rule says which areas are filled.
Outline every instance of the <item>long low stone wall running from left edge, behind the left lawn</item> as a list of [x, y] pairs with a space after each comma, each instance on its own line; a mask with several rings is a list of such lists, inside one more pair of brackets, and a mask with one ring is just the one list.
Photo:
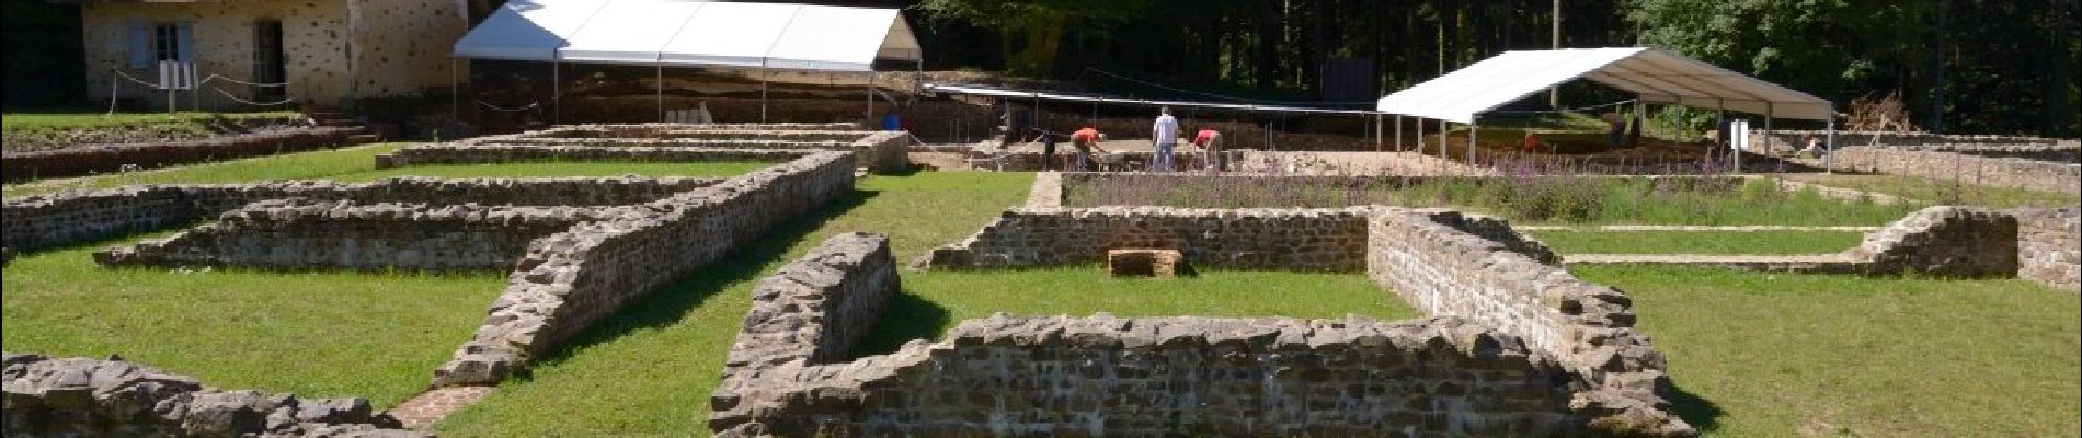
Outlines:
[[160, 230], [219, 216], [239, 206], [277, 199], [354, 199], [362, 203], [483, 206], [620, 206], [708, 187], [720, 179], [389, 179], [341, 185], [289, 181], [256, 185], [142, 185], [65, 195], [8, 197], [0, 237], [8, 251]]

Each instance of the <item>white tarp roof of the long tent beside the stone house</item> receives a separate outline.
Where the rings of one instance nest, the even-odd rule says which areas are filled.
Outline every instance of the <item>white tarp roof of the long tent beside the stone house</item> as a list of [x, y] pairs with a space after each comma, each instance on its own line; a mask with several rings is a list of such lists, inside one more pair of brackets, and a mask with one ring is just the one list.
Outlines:
[[700, 0], [512, 0], [456, 39], [460, 58], [870, 71], [920, 60], [895, 8]]

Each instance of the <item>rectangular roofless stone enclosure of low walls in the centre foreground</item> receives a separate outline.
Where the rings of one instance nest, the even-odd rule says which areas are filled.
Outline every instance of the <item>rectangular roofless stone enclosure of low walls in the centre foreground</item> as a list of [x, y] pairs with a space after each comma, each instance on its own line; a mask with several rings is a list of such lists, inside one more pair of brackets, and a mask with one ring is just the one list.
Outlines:
[[[1495, 218], [1385, 206], [1016, 208], [926, 266], [1091, 264], [1116, 245], [1170, 245], [1193, 264], [1226, 268], [1368, 272], [1432, 318], [995, 316], [962, 322], [941, 343], [829, 363], [802, 353], [820, 351], [822, 340], [808, 336], [818, 330], [783, 326], [797, 334], [770, 336], [752, 320], [839, 318], [760, 299], [712, 399], [710, 428], [725, 436], [1695, 434], [1664, 399], [1664, 359], [1634, 330], [1630, 299], [1574, 278], [1553, 266], [1553, 251]], [[1307, 255], [1239, 257], [1278, 247]], [[810, 299], [820, 301], [829, 297]]]

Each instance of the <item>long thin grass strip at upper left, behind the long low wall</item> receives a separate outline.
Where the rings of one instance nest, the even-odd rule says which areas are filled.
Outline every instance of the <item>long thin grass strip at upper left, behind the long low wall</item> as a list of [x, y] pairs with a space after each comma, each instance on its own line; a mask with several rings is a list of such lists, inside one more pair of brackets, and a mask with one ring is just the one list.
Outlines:
[[518, 176], [735, 176], [772, 162], [512, 162], [512, 164], [460, 164], [460, 166], [404, 166], [375, 168], [375, 156], [389, 154], [406, 143], [356, 145], [325, 152], [298, 152], [269, 158], [233, 162], [212, 162], [164, 170], [144, 170], [129, 174], [100, 174], [81, 179], [54, 179], [8, 185], [6, 197], [108, 189], [123, 185], [221, 185], [289, 179], [331, 179], [341, 183], [366, 183], [393, 176], [435, 176], [435, 179], [518, 179]]

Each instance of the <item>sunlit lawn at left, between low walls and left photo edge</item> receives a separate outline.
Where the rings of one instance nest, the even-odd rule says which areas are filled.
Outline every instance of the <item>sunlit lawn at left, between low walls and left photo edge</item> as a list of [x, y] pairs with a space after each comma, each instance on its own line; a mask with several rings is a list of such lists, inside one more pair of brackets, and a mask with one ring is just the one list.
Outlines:
[[137, 237], [21, 255], [0, 289], [0, 349], [123, 355], [219, 388], [366, 396], [427, 386], [506, 286], [487, 274], [108, 270], [92, 253]]

